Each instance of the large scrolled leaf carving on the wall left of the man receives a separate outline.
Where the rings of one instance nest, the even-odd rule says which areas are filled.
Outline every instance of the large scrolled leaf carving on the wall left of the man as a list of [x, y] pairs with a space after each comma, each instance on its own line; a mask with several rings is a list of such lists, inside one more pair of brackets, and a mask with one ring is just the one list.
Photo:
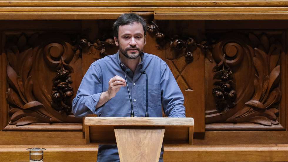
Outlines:
[[[73, 68], [68, 65], [74, 56], [71, 47], [69, 43], [63, 41], [59, 34], [40, 35], [35, 33], [29, 37], [25, 34], [21, 34], [20, 37], [18, 35], [7, 36], [9, 88], [6, 98], [10, 107], [9, 124], [19, 126], [30, 123], [81, 123], [82, 119], [75, 118], [71, 113], [71, 102], [67, 102], [67, 97], [73, 95], [72, 87], [68, 85], [71, 83], [69, 72], [73, 72]], [[45, 68], [46, 70], [50, 69], [47, 72], [50, 72], [51, 75], [57, 70], [59, 73], [53, 80], [56, 85], [53, 87], [53, 100], [48, 93], [49, 90], [43, 89], [49, 87], [46, 84], [51, 85], [51, 80], [49, 83], [49, 80], [45, 79], [50, 76], [43, 73]], [[61, 87], [58, 87], [59, 84]], [[67, 86], [66, 89], [65, 86]], [[50, 87], [52, 88], [52, 86]], [[63, 98], [61, 95], [57, 97], [58, 94], [55, 91], [63, 93], [65, 97]], [[56, 107], [58, 104], [55, 102], [56, 100], [65, 103], [65, 106], [70, 109], [63, 108], [63, 105]], [[66, 113], [62, 114], [54, 110], [51, 103], [53, 108], [56, 110], [60, 108], [60, 112], [65, 111]]]

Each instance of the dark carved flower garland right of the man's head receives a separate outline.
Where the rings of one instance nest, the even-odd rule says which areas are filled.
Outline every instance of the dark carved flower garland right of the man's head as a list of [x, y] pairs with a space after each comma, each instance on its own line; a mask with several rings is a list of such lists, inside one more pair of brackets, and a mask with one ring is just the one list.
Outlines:
[[177, 50], [179, 55], [184, 55], [185, 60], [190, 63], [194, 59], [196, 54], [196, 48], [200, 47], [205, 54], [205, 57], [213, 62], [211, 47], [207, 44], [207, 41], [202, 41], [200, 44], [195, 41], [193, 37], [174, 35], [173, 37], [165, 37], [165, 34], [160, 28], [152, 21], [151, 25], [148, 26], [148, 32], [156, 33], [156, 48], [161, 49], [165, 46], [165, 42], [170, 42], [170, 48]]

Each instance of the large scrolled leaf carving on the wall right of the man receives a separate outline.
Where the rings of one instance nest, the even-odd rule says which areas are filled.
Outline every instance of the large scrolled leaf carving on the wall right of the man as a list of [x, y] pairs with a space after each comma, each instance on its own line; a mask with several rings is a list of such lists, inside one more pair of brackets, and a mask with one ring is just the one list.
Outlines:
[[[226, 56], [224, 52], [227, 52]], [[278, 61], [280, 54], [283, 54], [282, 44], [274, 37], [268, 38], [266, 34], [256, 36], [249, 33], [248, 39], [242, 36], [236, 38], [228, 36], [215, 44], [213, 57], [216, 62], [220, 62], [219, 64], [223, 62], [224, 67], [237, 69], [245, 58], [248, 62], [248, 71], [246, 80], [243, 80], [245, 84], [242, 83], [243, 89], [237, 94], [237, 107], [228, 109], [225, 114], [220, 113], [219, 108], [217, 111], [206, 111], [206, 123], [252, 122], [266, 126], [279, 124], [277, 108], [282, 96], [279, 88], [280, 65]], [[230, 74], [230, 72], [228, 73]], [[219, 79], [219, 77], [215, 77], [215, 79]], [[213, 93], [217, 95], [217, 92]]]

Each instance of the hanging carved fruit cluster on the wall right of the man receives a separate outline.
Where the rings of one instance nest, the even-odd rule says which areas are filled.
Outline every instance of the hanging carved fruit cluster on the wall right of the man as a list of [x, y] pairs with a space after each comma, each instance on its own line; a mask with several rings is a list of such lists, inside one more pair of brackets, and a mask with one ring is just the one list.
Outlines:
[[225, 54], [221, 62], [214, 67], [216, 79], [213, 85], [212, 94], [216, 100], [216, 109], [221, 113], [226, 113], [233, 108], [236, 103], [235, 83], [232, 81], [232, 70], [226, 63]]

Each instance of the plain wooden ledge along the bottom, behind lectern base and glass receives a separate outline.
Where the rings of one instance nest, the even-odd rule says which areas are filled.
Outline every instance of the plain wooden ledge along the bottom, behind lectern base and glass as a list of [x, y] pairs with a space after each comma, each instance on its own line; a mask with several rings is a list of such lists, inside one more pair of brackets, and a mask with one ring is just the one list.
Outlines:
[[[29, 151], [33, 146], [2, 146], [0, 161], [29, 161]], [[39, 146], [40, 147], [40, 146]], [[44, 151], [44, 161], [57, 162], [92, 162], [97, 159], [98, 146], [41, 146]], [[164, 145], [163, 160], [165, 162], [259, 162], [287, 161], [287, 145], [257, 145], [257, 146], [187, 146]]]

